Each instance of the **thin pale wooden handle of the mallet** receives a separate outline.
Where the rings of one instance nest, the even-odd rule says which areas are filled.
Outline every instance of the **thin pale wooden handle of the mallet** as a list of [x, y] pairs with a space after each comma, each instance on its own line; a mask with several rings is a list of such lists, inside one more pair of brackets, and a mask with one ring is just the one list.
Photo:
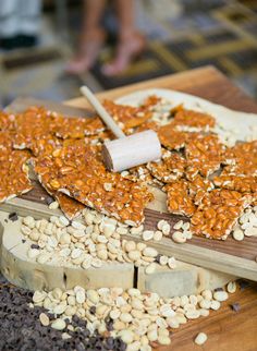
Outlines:
[[125, 137], [125, 134], [122, 130], [117, 125], [111, 116], [107, 112], [105, 107], [100, 104], [100, 101], [96, 98], [96, 96], [91, 93], [91, 90], [87, 86], [81, 87], [82, 95], [84, 95], [88, 102], [95, 108], [101, 120], [109, 126], [112, 133], [118, 137]]

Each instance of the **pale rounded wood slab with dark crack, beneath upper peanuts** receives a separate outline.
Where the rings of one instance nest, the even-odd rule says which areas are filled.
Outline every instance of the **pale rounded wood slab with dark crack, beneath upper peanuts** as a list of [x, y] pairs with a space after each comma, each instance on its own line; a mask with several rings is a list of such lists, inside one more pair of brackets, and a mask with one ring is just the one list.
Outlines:
[[[145, 267], [135, 274], [133, 263], [110, 262], [101, 268], [82, 269], [78, 267], [51, 263], [38, 264], [36, 259], [28, 258], [26, 253], [33, 241], [23, 242], [21, 233], [22, 217], [16, 221], [5, 222], [7, 214], [0, 211], [0, 268], [3, 276], [13, 285], [29, 290], [52, 290], [53, 288], [72, 289], [83, 286], [85, 289], [113, 287], [119, 283], [123, 289], [139, 288], [142, 291], [157, 292], [161, 296], [196, 294], [206, 289], [223, 287], [236, 277], [205, 269], [178, 261], [174, 269], [158, 267], [164, 274], [162, 285], [155, 285], [160, 279], [156, 275], [146, 275]], [[113, 280], [113, 276], [115, 279]], [[149, 282], [151, 283], [149, 285]], [[154, 285], [152, 285], [154, 283]], [[169, 289], [167, 289], [167, 286]]]

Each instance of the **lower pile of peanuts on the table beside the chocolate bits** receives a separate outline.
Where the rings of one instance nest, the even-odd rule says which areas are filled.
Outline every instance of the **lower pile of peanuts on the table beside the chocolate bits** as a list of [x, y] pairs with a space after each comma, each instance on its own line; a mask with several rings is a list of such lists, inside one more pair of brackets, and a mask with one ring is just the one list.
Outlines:
[[[236, 283], [230, 282], [227, 291], [234, 293]], [[100, 288], [85, 290], [82, 287], [63, 291], [59, 288], [50, 292], [35, 291], [33, 306], [42, 306], [39, 319], [44, 326], [62, 330], [63, 339], [69, 331], [75, 331], [72, 317], [87, 322], [87, 329], [105, 337], [120, 337], [127, 351], [150, 351], [157, 344], [170, 344], [170, 331], [199, 317], [206, 317], [210, 311], [217, 311], [221, 302], [229, 298], [223, 289], [204, 290], [197, 295], [161, 298], [157, 293], [142, 293], [136, 288]], [[52, 320], [48, 313], [54, 316]], [[207, 340], [203, 336], [195, 342]]]

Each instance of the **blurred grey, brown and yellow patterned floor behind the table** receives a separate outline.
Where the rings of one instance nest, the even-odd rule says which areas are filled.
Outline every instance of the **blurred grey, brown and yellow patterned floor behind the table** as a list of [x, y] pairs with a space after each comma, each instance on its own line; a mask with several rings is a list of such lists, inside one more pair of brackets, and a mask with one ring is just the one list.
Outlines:
[[[91, 73], [79, 77], [66, 75], [64, 66], [72, 55], [70, 43], [57, 34], [52, 17], [46, 16], [44, 40], [36, 51], [39, 59], [33, 58], [29, 64], [24, 64], [24, 59], [34, 56], [32, 51], [11, 56], [0, 52], [0, 74], [4, 82], [0, 85], [0, 104], [7, 105], [19, 95], [63, 100], [77, 96], [83, 82], [99, 90], [209, 63], [257, 97], [255, 0], [148, 0], [147, 7], [143, 7], [144, 3], [137, 1], [137, 23], [149, 45], [126, 72], [113, 78], [100, 73], [100, 64], [112, 53], [107, 47]], [[78, 33], [79, 14], [79, 11], [70, 14], [71, 38]]]

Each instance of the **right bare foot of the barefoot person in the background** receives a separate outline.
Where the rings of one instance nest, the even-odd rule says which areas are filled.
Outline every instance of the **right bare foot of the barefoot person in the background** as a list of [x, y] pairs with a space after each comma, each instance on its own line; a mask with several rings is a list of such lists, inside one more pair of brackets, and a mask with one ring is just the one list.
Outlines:
[[111, 76], [123, 72], [144, 51], [145, 46], [145, 38], [138, 33], [133, 33], [126, 36], [126, 38], [121, 39], [118, 44], [114, 60], [102, 66], [102, 73]]

